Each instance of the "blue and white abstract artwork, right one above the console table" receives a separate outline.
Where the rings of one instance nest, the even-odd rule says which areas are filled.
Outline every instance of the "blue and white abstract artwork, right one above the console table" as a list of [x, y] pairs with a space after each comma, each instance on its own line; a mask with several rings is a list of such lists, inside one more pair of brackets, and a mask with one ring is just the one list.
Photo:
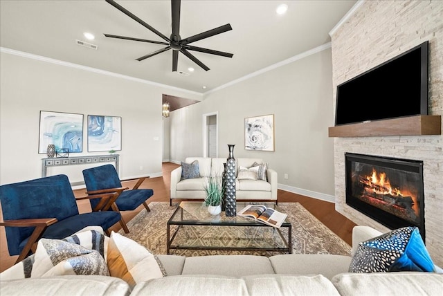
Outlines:
[[122, 149], [122, 118], [88, 115], [88, 152]]

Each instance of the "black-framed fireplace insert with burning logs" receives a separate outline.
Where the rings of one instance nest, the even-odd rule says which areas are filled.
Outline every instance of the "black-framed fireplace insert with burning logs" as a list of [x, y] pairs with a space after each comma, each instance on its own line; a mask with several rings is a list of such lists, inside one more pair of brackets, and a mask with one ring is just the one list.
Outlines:
[[425, 241], [423, 162], [345, 154], [346, 204], [390, 229], [416, 226]]

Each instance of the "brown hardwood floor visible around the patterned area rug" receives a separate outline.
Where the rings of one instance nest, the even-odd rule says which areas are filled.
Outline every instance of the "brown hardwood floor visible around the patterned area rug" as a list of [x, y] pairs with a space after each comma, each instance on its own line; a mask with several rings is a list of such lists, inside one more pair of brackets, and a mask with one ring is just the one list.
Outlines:
[[[152, 201], [167, 201], [169, 202], [169, 188], [170, 188], [170, 172], [172, 169], [179, 167], [174, 163], [163, 163], [163, 177], [148, 178], [140, 188], [154, 189], [154, 195], [148, 200]], [[132, 188], [136, 181], [123, 181], [123, 186]], [[85, 189], [74, 190], [75, 196], [85, 196]], [[356, 225], [354, 222], [347, 219], [342, 214], [336, 212], [334, 209], [334, 203], [327, 201], [320, 201], [316, 198], [310, 198], [298, 194], [293, 194], [284, 190], [278, 190], [278, 202], [279, 203], [300, 203], [311, 214], [316, 216], [323, 224], [325, 224], [330, 230], [341, 237], [346, 243], [352, 243], [352, 228]], [[79, 211], [90, 212], [91, 206], [89, 201], [78, 201]], [[129, 221], [134, 218], [138, 212], [145, 210], [145, 207], [141, 205], [134, 211], [122, 212], [123, 219]], [[1, 215], [1, 211], [0, 211]], [[3, 215], [0, 216], [3, 221]], [[110, 230], [120, 230], [120, 224], [116, 223]], [[6, 234], [3, 227], [0, 228], [0, 272], [9, 268], [15, 263], [18, 256], [9, 256], [8, 247], [6, 245]]]

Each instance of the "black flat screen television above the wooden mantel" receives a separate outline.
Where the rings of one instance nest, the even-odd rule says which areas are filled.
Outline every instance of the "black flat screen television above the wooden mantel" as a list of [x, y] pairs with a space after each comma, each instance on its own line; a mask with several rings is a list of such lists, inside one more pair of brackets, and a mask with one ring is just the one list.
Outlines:
[[428, 115], [428, 41], [337, 86], [335, 125]]

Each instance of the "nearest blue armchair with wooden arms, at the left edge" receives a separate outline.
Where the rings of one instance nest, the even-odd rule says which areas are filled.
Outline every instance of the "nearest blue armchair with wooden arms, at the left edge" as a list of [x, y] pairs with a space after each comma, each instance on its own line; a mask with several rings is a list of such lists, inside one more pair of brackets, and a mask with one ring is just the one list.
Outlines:
[[[78, 199], [96, 198], [93, 212], [79, 214]], [[107, 211], [117, 194], [75, 198], [66, 175], [49, 176], [0, 186], [1, 210], [9, 255], [17, 262], [35, 252], [39, 239], [63, 239], [87, 226], [108, 230], [120, 222], [118, 212]], [[107, 231], [109, 234], [109, 232]]]

